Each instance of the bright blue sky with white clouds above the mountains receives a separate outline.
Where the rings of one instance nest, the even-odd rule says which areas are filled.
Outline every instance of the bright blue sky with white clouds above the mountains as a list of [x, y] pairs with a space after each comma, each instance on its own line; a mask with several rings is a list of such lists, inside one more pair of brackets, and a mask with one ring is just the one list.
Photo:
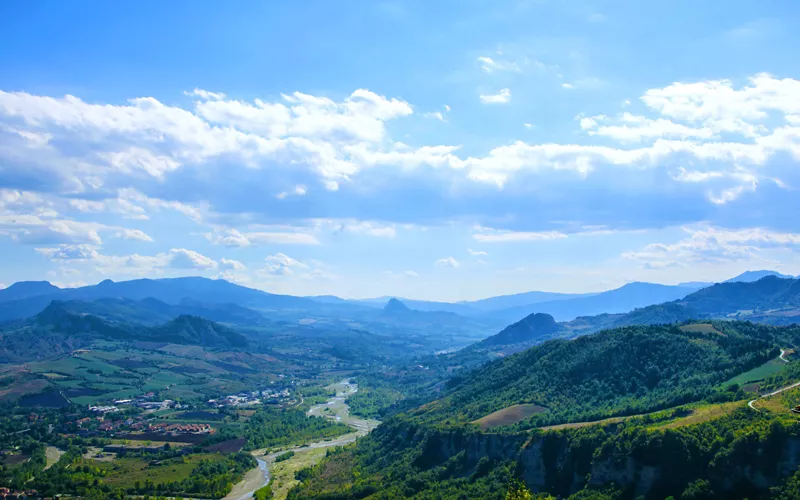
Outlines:
[[0, 3], [0, 286], [800, 274], [800, 2]]

